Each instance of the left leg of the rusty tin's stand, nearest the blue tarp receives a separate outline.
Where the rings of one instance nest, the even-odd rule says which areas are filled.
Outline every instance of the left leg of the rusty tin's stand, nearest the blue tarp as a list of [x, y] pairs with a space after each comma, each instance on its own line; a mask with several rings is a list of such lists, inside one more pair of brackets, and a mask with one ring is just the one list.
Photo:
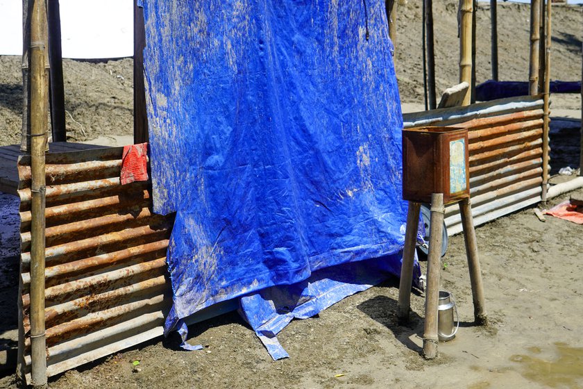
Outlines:
[[403, 263], [399, 281], [399, 301], [397, 317], [399, 322], [409, 321], [409, 307], [411, 305], [411, 286], [413, 283], [413, 263], [417, 229], [419, 227], [419, 210], [421, 204], [409, 201], [407, 212], [407, 229], [405, 230], [405, 247], [403, 248]]

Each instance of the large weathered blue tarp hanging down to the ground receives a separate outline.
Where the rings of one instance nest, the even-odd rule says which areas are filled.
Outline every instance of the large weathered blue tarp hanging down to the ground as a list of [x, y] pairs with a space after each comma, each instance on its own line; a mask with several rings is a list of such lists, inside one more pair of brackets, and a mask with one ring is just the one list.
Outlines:
[[398, 274], [402, 116], [382, 2], [148, 0], [144, 17], [154, 210], [177, 212], [166, 330], [244, 296], [274, 335], [274, 313], [307, 317]]

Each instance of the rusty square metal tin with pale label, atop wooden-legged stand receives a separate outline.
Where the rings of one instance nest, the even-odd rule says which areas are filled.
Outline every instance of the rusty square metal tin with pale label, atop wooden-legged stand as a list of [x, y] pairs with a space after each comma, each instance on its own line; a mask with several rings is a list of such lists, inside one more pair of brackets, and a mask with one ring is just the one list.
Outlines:
[[468, 130], [419, 127], [403, 130], [403, 199], [443, 204], [470, 196]]

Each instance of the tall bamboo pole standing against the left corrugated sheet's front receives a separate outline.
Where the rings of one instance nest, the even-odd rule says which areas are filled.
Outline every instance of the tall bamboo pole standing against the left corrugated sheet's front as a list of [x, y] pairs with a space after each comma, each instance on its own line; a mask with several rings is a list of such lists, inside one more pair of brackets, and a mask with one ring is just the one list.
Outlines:
[[44, 329], [44, 150], [47, 145], [48, 101], [45, 56], [47, 10], [44, 0], [32, 0], [31, 15], [31, 364], [33, 386], [47, 384]]

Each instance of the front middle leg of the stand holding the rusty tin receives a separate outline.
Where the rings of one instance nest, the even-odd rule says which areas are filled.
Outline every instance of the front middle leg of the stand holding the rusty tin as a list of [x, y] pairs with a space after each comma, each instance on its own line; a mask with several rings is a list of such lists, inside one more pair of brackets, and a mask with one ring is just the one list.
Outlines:
[[437, 356], [437, 304], [439, 304], [439, 267], [441, 242], [443, 240], [443, 193], [431, 195], [431, 226], [425, 290], [425, 330], [423, 332], [423, 356], [433, 359]]

